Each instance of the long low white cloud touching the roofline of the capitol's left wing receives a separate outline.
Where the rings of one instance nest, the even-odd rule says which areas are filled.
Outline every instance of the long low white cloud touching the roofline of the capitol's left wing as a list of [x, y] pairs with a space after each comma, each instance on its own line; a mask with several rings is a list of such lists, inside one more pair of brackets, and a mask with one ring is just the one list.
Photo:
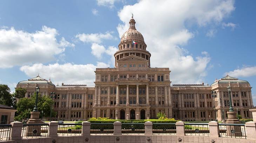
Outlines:
[[57, 83], [61, 85], [64, 82], [65, 84], [87, 84], [88, 86], [93, 86], [95, 69], [103, 67], [109, 67], [109, 65], [103, 62], [97, 62], [97, 65], [75, 65], [72, 63], [43, 65], [42, 63], [36, 63], [32, 66], [22, 66], [20, 70], [29, 77], [35, 77], [38, 73], [42, 78], [48, 79], [51, 77], [55, 85]]

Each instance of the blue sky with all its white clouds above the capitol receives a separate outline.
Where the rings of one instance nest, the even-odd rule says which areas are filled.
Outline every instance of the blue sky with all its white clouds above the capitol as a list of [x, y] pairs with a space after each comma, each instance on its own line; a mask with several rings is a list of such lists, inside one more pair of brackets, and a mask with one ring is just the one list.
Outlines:
[[[175, 83], [230, 76], [256, 85], [255, 1], [0, 1], [0, 84], [36, 76], [94, 85], [113, 67], [131, 13], [151, 52]], [[164, 62], [163, 62], [164, 61]], [[254, 103], [256, 90], [252, 88]]]

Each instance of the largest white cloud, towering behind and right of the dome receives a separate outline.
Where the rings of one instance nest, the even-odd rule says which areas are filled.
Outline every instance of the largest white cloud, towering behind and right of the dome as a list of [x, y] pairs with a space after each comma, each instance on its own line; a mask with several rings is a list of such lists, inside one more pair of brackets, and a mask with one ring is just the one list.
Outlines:
[[133, 12], [136, 29], [143, 34], [151, 53], [151, 67], [169, 67], [173, 83], [201, 83], [207, 74], [210, 57], [205, 53], [193, 57], [181, 47], [195, 36], [186, 25], [219, 24], [234, 9], [233, 0], [141, 0], [119, 11], [123, 23], [117, 30], [121, 37], [129, 28], [130, 13]]

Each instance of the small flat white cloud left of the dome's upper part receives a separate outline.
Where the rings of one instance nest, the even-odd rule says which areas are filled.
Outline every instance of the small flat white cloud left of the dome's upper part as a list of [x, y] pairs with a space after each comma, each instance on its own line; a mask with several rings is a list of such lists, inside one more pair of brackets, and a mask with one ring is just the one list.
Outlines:
[[113, 39], [111, 32], [106, 32], [105, 34], [102, 33], [90, 33], [90, 34], [78, 34], [76, 38], [81, 40], [84, 43], [101, 43], [102, 39]]

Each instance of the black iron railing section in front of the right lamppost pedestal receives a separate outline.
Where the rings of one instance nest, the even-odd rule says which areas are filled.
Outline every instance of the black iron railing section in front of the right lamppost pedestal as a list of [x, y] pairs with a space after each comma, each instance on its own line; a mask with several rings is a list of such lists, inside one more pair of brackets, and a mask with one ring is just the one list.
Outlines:
[[231, 138], [245, 138], [245, 126], [244, 124], [219, 124], [220, 136]]

